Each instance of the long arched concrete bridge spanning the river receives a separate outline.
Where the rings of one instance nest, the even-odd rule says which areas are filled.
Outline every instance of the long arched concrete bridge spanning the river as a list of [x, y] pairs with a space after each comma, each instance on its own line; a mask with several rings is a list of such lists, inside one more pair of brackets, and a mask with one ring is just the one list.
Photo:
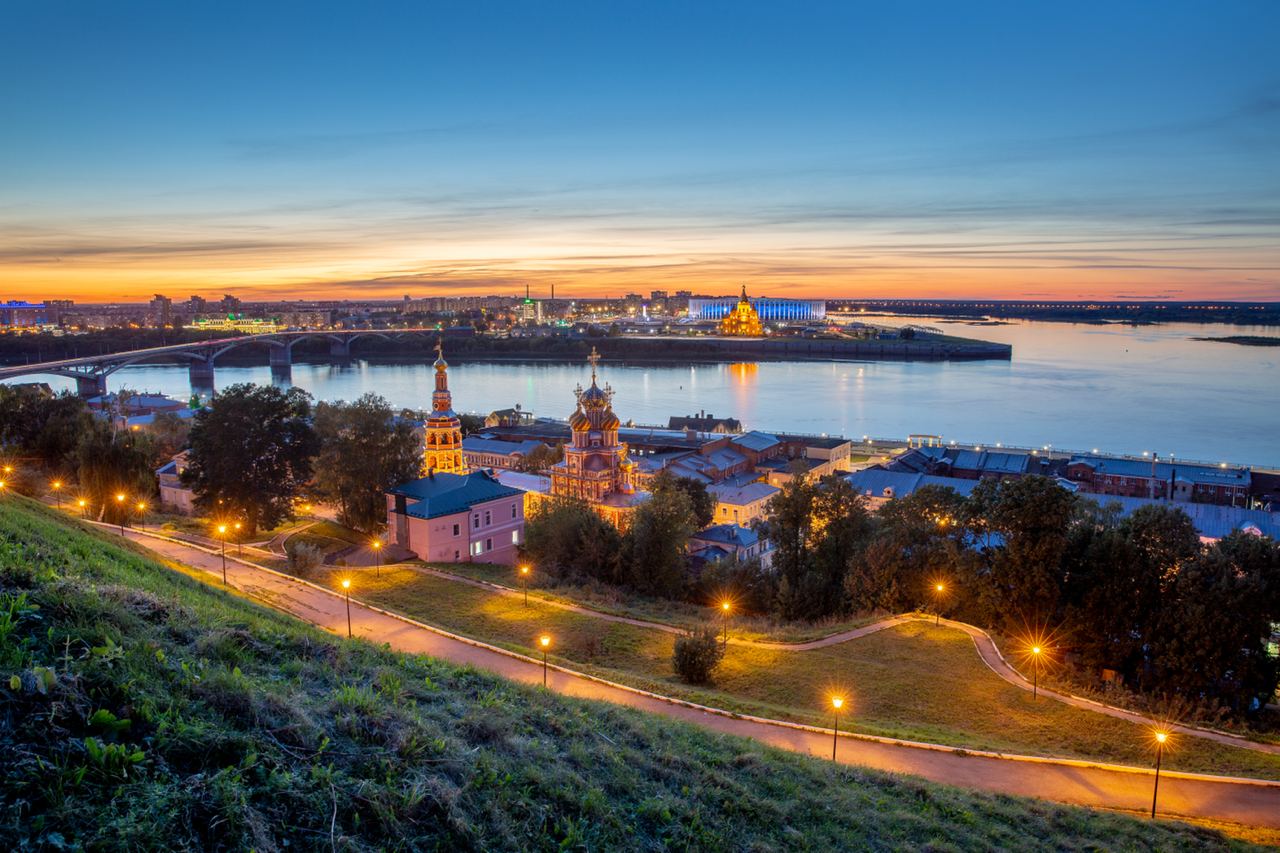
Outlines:
[[384, 338], [394, 341], [408, 336], [440, 334], [439, 329], [353, 329], [343, 330], [314, 330], [314, 332], [274, 332], [270, 334], [244, 334], [234, 338], [218, 338], [216, 341], [198, 341], [193, 343], [174, 343], [164, 347], [150, 347], [146, 350], [129, 350], [127, 352], [111, 352], [108, 355], [84, 356], [81, 359], [63, 359], [60, 361], [42, 361], [38, 364], [23, 364], [0, 368], [0, 380], [17, 377], [55, 375], [69, 377], [76, 380], [76, 392], [82, 397], [93, 397], [106, 393], [106, 378], [122, 368], [140, 361], [169, 360], [188, 362], [191, 371], [191, 387], [200, 389], [212, 389], [214, 387], [214, 360], [228, 350], [244, 346], [268, 347], [268, 357], [271, 371], [288, 375], [293, 365], [293, 347], [300, 341], [311, 338], [326, 338], [329, 341], [329, 355], [333, 359], [349, 359], [351, 345], [360, 338]]

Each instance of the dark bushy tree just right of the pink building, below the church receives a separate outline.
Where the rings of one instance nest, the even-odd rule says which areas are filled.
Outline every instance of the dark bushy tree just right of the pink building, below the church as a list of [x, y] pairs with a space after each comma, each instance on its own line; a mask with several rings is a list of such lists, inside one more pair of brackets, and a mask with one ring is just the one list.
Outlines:
[[552, 578], [617, 583], [622, 537], [584, 501], [553, 498], [525, 523], [522, 555]]

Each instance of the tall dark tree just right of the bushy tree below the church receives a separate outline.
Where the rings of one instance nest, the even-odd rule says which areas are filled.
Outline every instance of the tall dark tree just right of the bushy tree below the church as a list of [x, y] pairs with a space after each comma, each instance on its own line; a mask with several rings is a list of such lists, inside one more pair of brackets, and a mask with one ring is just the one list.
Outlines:
[[637, 506], [622, 537], [620, 580], [644, 593], [680, 596], [687, 567], [689, 537], [696, 532], [689, 496], [673, 485], [650, 493]]

